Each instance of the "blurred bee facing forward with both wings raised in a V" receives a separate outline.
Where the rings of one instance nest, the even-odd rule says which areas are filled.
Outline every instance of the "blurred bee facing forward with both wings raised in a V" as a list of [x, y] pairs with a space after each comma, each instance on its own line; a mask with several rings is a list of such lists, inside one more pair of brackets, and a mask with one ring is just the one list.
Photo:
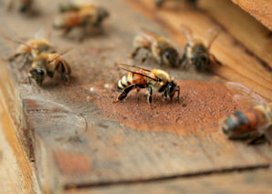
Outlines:
[[221, 63], [210, 53], [210, 47], [212, 46], [214, 39], [219, 35], [220, 28], [214, 26], [207, 32], [208, 39], [205, 42], [203, 39], [194, 38], [193, 31], [187, 27], [182, 26], [183, 35], [186, 37], [188, 43], [184, 47], [183, 57], [180, 61], [183, 68], [187, 68], [188, 65], [193, 65], [195, 70], [206, 70], [212, 61], [221, 65]]

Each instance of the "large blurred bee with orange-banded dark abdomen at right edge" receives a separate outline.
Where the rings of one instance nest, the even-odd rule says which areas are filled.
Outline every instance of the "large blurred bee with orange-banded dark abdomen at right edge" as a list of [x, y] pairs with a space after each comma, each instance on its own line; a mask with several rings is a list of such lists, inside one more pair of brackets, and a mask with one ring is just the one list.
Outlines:
[[259, 138], [267, 138], [265, 133], [272, 125], [272, 102], [258, 96], [249, 88], [228, 82], [226, 87], [235, 92], [236, 102], [246, 104], [246, 111], [236, 111], [234, 115], [223, 120], [221, 128], [228, 138], [250, 138], [249, 144], [256, 143]]

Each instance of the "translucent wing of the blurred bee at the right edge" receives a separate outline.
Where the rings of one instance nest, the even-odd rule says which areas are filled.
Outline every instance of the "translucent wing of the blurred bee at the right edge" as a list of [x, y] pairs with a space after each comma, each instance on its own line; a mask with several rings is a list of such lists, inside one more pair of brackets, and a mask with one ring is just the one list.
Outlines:
[[235, 93], [234, 99], [237, 103], [246, 107], [254, 107], [256, 105], [266, 105], [267, 100], [260, 97], [253, 90], [236, 82], [227, 82], [226, 87]]

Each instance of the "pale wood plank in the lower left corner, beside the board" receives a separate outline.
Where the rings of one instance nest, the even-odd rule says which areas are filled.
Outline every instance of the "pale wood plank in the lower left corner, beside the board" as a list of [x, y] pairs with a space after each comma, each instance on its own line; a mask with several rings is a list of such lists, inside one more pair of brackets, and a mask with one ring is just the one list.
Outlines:
[[0, 192], [40, 193], [37, 178], [16, 137], [13, 119], [9, 116], [0, 90]]

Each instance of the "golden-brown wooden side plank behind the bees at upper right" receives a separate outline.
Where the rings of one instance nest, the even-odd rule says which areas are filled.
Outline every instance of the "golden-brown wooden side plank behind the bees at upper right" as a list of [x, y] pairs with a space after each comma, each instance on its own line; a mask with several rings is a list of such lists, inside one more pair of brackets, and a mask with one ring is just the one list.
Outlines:
[[[188, 9], [187, 7], [176, 11], [169, 8], [157, 10], [152, 1], [147, 0], [137, 1], [137, 3], [132, 0], [127, 0], [127, 2], [142, 14], [161, 23], [181, 47], [186, 44], [185, 37], [181, 33], [181, 24], [190, 26], [195, 36], [204, 38], [207, 36], [207, 29], [212, 26], [221, 26], [223, 31], [214, 41], [211, 52], [223, 63], [223, 66], [214, 67], [214, 74], [227, 80], [240, 82], [253, 88], [262, 96], [271, 99], [272, 64], [269, 53], [272, 50], [272, 39], [267, 37], [269, 31], [260, 25], [256, 25], [254, 21], [252, 27], [248, 25], [252, 20], [250, 16], [241, 15], [236, 9], [232, 12], [233, 9], [227, 8], [227, 6], [234, 6], [230, 2], [221, 3], [225, 1], [220, 1], [219, 3], [211, 0], [208, 3], [206, 1], [202, 3], [200, 1], [200, 7], [201, 5], [207, 7], [207, 12], [202, 8]], [[222, 12], [219, 13], [219, 10], [222, 10]], [[226, 17], [227, 19], [225, 19]], [[233, 25], [233, 21], [236, 21], [237, 24]], [[249, 29], [254, 29], [254, 31], [246, 30], [246, 26], [242, 29], [238, 27], [242, 24], [250, 26]], [[254, 39], [251, 38], [252, 33]], [[239, 43], [240, 39], [243, 44]], [[246, 44], [246, 42], [249, 43]], [[259, 48], [257, 49], [257, 47]], [[256, 50], [259, 50], [256, 52], [258, 57], [254, 54]]]

